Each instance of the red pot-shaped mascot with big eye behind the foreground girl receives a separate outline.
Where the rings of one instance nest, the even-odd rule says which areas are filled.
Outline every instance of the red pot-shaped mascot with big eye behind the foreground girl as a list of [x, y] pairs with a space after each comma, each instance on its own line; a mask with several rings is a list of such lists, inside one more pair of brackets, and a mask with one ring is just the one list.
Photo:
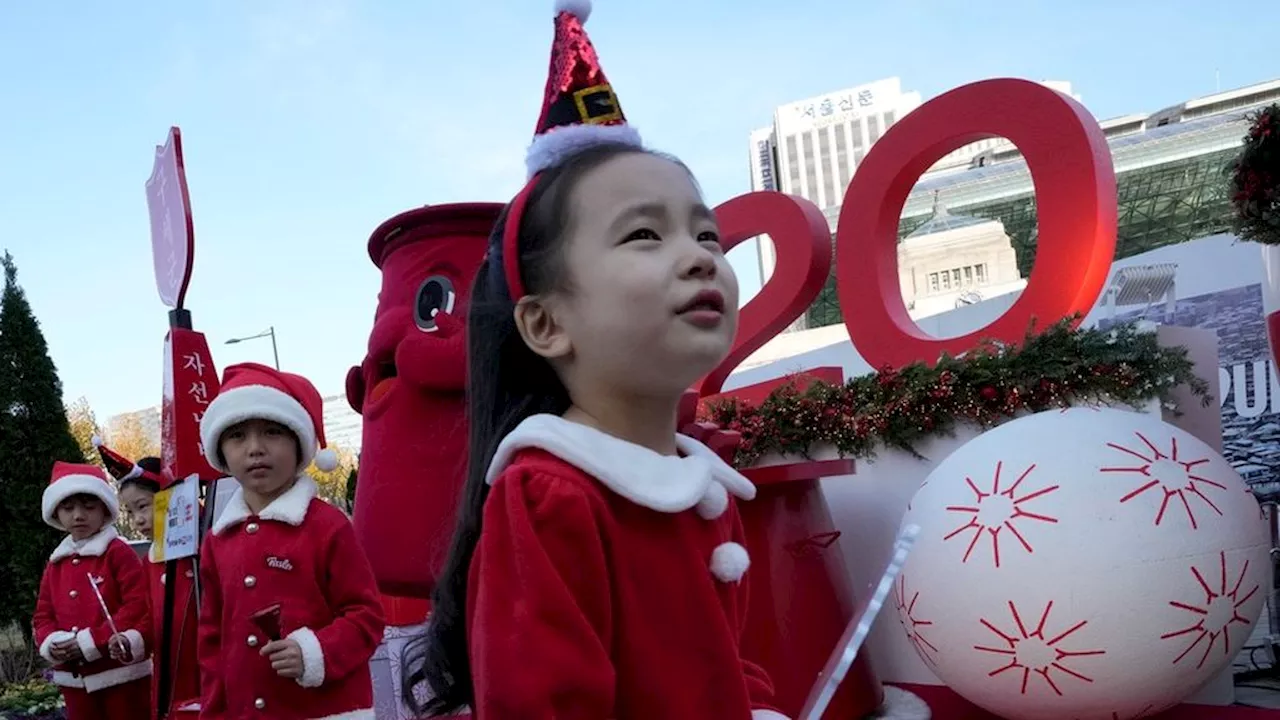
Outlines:
[[[369, 238], [383, 286], [347, 400], [364, 415], [356, 536], [388, 596], [429, 597], [448, 550], [466, 473], [466, 307], [499, 210], [419, 208]], [[388, 610], [392, 624], [421, 620]]]

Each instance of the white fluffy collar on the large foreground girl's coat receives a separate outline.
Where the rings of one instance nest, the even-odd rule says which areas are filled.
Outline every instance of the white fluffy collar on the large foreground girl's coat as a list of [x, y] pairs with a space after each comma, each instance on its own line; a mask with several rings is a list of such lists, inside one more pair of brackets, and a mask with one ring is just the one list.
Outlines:
[[530, 447], [550, 452], [631, 502], [659, 512], [696, 506], [713, 482], [742, 500], [755, 497], [750, 480], [694, 438], [677, 434], [681, 456], [659, 455], [557, 415], [527, 418], [503, 438], [485, 482], [493, 484], [516, 452]]

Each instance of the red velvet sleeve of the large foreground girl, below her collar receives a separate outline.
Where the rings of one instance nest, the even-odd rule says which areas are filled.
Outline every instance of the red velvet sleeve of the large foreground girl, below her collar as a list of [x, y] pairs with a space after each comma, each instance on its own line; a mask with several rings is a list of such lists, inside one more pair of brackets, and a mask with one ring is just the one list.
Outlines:
[[616, 715], [608, 564], [580, 486], [518, 465], [503, 473], [467, 584], [476, 716]]

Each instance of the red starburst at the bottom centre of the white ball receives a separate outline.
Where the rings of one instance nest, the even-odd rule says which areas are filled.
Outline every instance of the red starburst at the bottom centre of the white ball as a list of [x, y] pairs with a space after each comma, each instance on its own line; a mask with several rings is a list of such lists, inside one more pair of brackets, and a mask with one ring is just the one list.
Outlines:
[[1053, 691], [1053, 694], [1062, 696], [1062, 687], [1066, 682], [1082, 682], [1093, 683], [1093, 678], [1083, 674], [1080, 670], [1068, 667], [1069, 664], [1074, 664], [1075, 659], [1091, 657], [1096, 655], [1106, 655], [1105, 650], [1064, 650], [1060, 647], [1068, 641], [1073, 634], [1084, 629], [1089, 624], [1088, 620], [1080, 620], [1079, 623], [1071, 625], [1061, 633], [1050, 635], [1046, 626], [1048, 625], [1050, 612], [1053, 611], [1053, 601], [1050, 601], [1044, 606], [1044, 612], [1041, 614], [1039, 623], [1034, 628], [1028, 630], [1027, 624], [1023, 623], [1021, 615], [1018, 612], [1018, 607], [1009, 602], [1009, 614], [1014, 620], [1014, 632], [1005, 632], [996, 626], [995, 623], [987, 620], [986, 618], [979, 621], [984, 628], [996, 634], [1005, 647], [987, 647], [975, 644], [974, 650], [979, 652], [988, 652], [992, 655], [998, 655], [1006, 660], [1004, 665], [996, 667], [991, 673], [987, 673], [988, 678], [995, 678], [996, 675], [1002, 675], [1010, 673], [1019, 678], [1020, 685], [1019, 692], [1027, 694], [1032, 687], [1032, 679], [1039, 678], [1041, 682], [1048, 689]]

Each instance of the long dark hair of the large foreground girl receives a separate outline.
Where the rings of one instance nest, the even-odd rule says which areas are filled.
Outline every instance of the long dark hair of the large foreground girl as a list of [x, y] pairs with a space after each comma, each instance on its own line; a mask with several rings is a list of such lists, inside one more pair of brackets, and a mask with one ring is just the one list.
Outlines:
[[[564, 287], [563, 238], [571, 231], [570, 197], [584, 176], [620, 155], [648, 152], [630, 145], [598, 145], [545, 170], [520, 218], [521, 279], [530, 293]], [[502, 232], [507, 210], [489, 238], [489, 254], [471, 288], [467, 314], [467, 477], [460, 500], [449, 555], [431, 593], [426, 633], [404, 652], [402, 694], [419, 714], [447, 714], [471, 705], [474, 691], [468, 660], [466, 601], [467, 574], [484, 501], [485, 474], [498, 443], [531, 415], [562, 415], [568, 391], [550, 363], [534, 354], [516, 329], [515, 300], [503, 275]], [[413, 688], [425, 682], [431, 700], [422, 703]]]

